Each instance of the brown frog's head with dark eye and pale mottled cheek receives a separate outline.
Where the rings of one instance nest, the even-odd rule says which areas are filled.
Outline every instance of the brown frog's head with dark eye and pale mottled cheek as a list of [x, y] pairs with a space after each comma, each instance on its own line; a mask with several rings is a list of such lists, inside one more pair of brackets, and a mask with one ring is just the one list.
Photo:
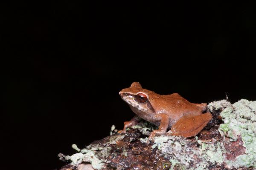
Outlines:
[[137, 114], [137, 112], [154, 112], [150, 103], [151, 93], [154, 92], [143, 89], [139, 82], [134, 82], [130, 87], [122, 89], [119, 95]]

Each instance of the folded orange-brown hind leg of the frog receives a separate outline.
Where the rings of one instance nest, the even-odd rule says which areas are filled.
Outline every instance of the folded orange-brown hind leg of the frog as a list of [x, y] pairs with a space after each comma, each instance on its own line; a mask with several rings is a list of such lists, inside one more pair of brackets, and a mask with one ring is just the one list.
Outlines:
[[183, 116], [171, 128], [171, 135], [191, 137], [197, 135], [212, 119], [211, 113], [196, 116]]

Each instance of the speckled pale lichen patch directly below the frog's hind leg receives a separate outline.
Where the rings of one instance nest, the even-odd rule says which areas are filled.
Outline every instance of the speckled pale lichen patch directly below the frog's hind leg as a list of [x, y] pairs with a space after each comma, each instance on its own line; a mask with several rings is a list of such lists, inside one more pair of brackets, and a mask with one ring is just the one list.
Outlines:
[[163, 154], [170, 156], [171, 160], [176, 160], [176, 164], [178, 162], [180, 165], [179, 167], [185, 167], [186, 169], [201, 170], [207, 169], [209, 163], [216, 165], [223, 163], [224, 157], [222, 154], [225, 153], [225, 148], [221, 142], [207, 144], [200, 141], [199, 143], [201, 143], [199, 148], [188, 147], [189, 141], [186, 138], [169, 138], [166, 144], [161, 144], [161, 150]]

